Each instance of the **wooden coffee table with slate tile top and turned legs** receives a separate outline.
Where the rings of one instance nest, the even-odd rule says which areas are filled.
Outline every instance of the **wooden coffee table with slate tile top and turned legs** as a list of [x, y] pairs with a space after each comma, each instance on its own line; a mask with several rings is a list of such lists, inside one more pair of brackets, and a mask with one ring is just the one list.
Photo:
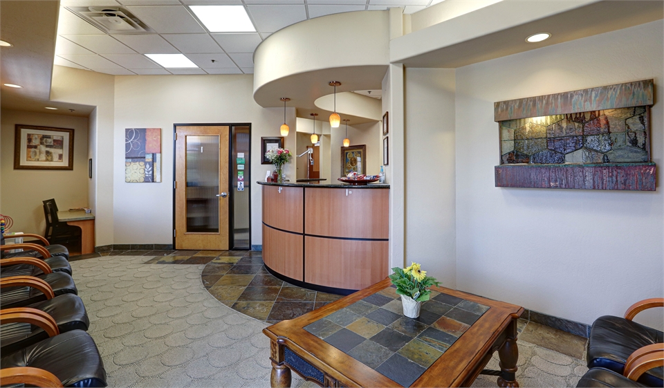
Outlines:
[[[468, 387], [480, 373], [519, 387], [517, 319], [524, 308], [433, 287], [420, 317], [403, 316], [389, 279], [269, 326], [272, 387], [291, 370], [323, 387]], [[483, 368], [498, 351], [500, 371]]]

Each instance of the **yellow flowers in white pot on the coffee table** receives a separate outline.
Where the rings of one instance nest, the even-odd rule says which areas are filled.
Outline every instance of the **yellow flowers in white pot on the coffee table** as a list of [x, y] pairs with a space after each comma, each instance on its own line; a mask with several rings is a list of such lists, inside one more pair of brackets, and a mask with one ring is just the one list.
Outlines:
[[427, 276], [427, 271], [423, 271], [417, 263], [412, 263], [407, 268], [394, 267], [392, 271], [394, 273], [389, 275], [389, 279], [396, 286], [396, 293], [401, 295], [403, 315], [409, 318], [419, 317], [422, 302], [429, 300], [431, 294], [431, 290], [427, 288], [439, 286], [440, 282]]

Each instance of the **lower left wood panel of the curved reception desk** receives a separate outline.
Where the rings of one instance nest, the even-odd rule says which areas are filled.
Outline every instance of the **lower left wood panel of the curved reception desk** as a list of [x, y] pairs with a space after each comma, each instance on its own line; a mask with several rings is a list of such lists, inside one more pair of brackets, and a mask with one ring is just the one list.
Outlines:
[[303, 281], [302, 234], [282, 232], [263, 225], [263, 261], [270, 269]]

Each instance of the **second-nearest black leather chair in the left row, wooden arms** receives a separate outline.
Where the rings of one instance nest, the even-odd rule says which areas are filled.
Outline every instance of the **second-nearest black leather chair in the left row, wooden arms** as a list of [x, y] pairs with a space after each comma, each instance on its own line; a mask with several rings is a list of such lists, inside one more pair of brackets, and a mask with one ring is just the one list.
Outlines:
[[[6, 309], [0, 311], [0, 313], [12, 310], [24, 311], [25, 308], [33, 308], [50, 315], [60, 333], [72, 330], [87, 331], [90, 326], [85, 306], [78, 295], [59, 295], [44, 302], [28, 304], [26, 307]], [[46, 338], [48, 338], [48, 333], [35, 324], [26, 322], [3, 324], [0, 331], [0, 354], [19, 351], [39, 341], [46, 340]]]

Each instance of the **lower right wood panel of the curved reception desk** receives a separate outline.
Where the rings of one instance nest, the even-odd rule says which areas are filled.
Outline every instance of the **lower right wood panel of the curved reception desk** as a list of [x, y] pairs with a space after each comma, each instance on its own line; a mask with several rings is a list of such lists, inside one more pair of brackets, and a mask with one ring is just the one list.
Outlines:
[[304, 281], [361, 290], [387, 276], [387, 241], [304, 238]]

